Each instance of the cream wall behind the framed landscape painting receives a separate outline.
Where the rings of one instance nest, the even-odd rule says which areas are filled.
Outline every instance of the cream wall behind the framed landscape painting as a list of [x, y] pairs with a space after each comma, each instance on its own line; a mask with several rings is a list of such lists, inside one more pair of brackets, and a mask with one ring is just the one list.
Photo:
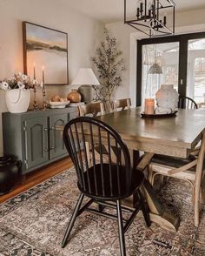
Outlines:
[[[0, 80], [23, 71], [22, 21], [69, 34], [69, 83], [79, 68], [93, 66], [90, 57], [95, 55], [95, 49], [102, 41], [103, 25], [70, 9], [68, 4], [62, 0], [0, 0]], [[46, 86], [47, 98], [56, 93], [66, 96], [70, 87]], [[40, 102], [41, 91], [38, 91], [37, 97]], [[3, 111], [7, 111], [7, 108], [4, 91], [0, 90], [0, 115]], [[0, 118], [0, 155], [3, 154], [2, 145]]]

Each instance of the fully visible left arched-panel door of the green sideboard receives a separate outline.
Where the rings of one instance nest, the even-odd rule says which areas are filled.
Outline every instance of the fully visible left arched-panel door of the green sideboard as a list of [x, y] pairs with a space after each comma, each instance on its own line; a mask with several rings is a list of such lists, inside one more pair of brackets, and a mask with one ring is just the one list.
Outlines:
[[24, 121], [26, 169], [49, 160], [48, 118]]

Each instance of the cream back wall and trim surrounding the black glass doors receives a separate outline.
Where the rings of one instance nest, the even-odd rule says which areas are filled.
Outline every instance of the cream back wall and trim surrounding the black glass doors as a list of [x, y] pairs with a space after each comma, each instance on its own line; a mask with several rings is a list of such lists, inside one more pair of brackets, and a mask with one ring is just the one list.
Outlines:
[[[177, 8], [176, 8], [177, 9]], [[175, 34], [205, 31], [205, 10], [180, 12], [175, 15]], [[117, 88], [115, 98], [129, 97], [136, 104], [136, 40], [147, 37], [123, 22], [106, 24], [116, 37], [123, 52], [126, 71], [122, 86]]]

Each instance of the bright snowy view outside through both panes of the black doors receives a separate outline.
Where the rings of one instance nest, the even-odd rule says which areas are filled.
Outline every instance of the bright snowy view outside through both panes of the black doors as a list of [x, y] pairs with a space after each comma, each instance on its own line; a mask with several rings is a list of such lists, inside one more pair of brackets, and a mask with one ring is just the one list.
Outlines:
[[[150, 72], [153, 64], [159, 69]], [[155, 98], [161, 84], [174, 84], [178, 90], [179, 43], [142, 46], [142, 102]], [[161, 69], [161, 70], [160, 70]], [[205, 38], [188, 40], [187, 96], [205, 102]]]

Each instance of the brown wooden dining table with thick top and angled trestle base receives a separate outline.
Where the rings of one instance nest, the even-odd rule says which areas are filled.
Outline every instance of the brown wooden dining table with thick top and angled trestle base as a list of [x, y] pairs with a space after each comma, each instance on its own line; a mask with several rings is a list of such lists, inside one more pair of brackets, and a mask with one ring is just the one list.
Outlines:
[[[134, 156], [132, 152], [138, 151], [187, 158], [205, 131], [204, 108], [179, 109], [175, 115], [144, 117], [142, 108], [136, 107], [96, 118], [120, 134], [131, 156]], [[134, 161], [134, 158], [132, 159]], [[149, 205], [150, 219], [159, 226], [176, 231], [180, 225], [179, 217], [160, 203], [148, 179], [144, 181], [143, 192]], [[202, 180], [202, 195], [205, 195], [205, 180]], [[202, 200], [205, 202], [203, 197]]]

